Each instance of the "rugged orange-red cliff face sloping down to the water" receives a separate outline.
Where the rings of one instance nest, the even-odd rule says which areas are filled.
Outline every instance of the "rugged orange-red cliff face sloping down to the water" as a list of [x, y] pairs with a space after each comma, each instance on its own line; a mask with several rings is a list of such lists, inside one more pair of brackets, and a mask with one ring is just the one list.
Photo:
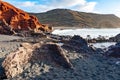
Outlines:
[[20, 30], [51, 32], [52, 28], [41, 24], [35, 16], [0, 0], [0, 33]]

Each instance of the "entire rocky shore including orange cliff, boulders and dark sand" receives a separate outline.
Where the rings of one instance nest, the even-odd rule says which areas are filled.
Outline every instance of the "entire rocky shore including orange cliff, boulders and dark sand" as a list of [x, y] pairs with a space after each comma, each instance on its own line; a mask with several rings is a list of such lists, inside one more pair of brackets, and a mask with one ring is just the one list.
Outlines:
[[[53, 35], [37, 17], [1, 0], [0, 5], [0, 80], [120, 80], [119, 34]], [[108, 41], [116, 45], [106, 50], [90, 45]]]

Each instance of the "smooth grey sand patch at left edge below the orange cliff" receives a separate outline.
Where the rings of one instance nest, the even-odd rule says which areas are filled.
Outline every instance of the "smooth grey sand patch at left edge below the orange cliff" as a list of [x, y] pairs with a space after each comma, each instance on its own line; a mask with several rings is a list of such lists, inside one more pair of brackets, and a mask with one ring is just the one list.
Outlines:
[[18, 48], [20, 43], [10, 41], [20, 38], [21, 37], [17, 36], [0, 35], [0, 54], [8, 54], [9, 52], [14, 51], [16, 48]]

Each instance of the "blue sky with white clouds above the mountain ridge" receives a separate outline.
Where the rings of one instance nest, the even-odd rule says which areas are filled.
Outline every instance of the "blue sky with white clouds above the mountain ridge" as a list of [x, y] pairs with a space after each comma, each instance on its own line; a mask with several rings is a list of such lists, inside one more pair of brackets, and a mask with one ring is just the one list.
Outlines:
[[4, 0], [27, 12], [60, 8], [80, 12], [115, 14], [120, 17], [120, 0]]

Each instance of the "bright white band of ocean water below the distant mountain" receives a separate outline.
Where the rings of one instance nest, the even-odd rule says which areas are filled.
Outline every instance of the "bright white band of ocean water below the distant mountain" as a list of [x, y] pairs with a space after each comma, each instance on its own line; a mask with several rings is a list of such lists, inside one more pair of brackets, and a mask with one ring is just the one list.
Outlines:
[[106, 38], [116, 36], [120, 33], [120, 28], [112, 28], [112, 29], [64, 29], [64, 30], [54, 30], [52, 34], [58, 35], [80, 35], [83, 38], [86, 38], [87, 35], [90, 35], [91, 38], [97, 38], [99, 35], [104, 36]]

